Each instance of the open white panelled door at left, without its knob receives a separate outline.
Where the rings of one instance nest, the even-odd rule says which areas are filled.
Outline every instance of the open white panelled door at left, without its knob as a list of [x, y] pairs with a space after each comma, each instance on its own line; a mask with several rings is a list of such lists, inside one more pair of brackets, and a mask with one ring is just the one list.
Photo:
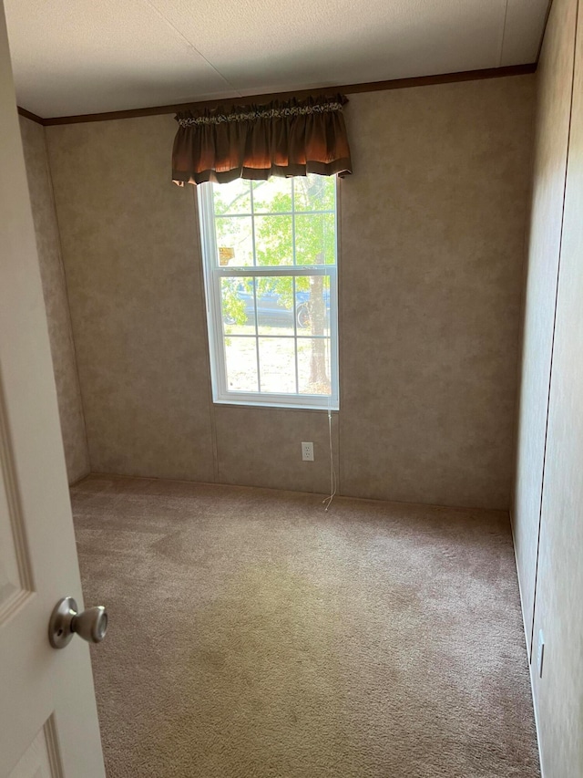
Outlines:
[[51, 648], [81, 585], [0, 0], [0, 776], [105, 775], [87, 643]]

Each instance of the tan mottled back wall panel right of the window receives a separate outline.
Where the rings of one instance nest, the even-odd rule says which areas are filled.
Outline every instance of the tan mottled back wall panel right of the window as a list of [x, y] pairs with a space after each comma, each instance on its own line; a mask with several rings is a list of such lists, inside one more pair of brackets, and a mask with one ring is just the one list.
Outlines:
[[353, 96], [343, 492], [507, 508], [534, 79]]

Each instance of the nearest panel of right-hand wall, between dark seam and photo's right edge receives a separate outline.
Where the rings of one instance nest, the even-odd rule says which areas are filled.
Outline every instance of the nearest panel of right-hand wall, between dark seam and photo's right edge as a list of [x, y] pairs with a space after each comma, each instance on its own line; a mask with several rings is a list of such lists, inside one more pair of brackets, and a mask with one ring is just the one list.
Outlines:
[[543, 677], [536, 679], [546, 778], [583, 775], [582, 556], [583, 15], [579, 0], [535, 614], [535, 634], [542, 629], [546, 640]]

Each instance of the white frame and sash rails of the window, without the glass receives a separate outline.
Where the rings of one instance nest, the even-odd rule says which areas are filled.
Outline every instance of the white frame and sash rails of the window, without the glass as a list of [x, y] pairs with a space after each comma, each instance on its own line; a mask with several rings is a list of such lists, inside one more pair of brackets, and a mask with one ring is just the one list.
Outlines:
[[[212, 184], [202, 183], [197, 187], [199, 198], [199, 223], [201, 236], [202, 265], [207, 307], [207, 325], [209, 330], [210, 375], [212, 379], [213, 401], [227, 405], [251, 405], [267, 408], [301, 408], [305, 410], [339, 410], [338, 379], [338, 182], [334, 190], [334, 265], [239, 265], [221, 266], [214, 225], [214, 202]], [[274, 214], [276, 212], [273, 212]], [[281, 212], [285, 215], [287, 212]], [[306, 213], [303, 212], [302, 213]], [[261, 213], [261, 215], [264, 215]], [[280, 215], [277, 212], [276, 215]], [[254, 214], [251, 214], [254, 218]], [[295, 226], [294, 226], [295, 240]], [[266, 391], [234, 391], [227, 385], [226, 355], [224, 349], [223, 317], [221, 310], [221, 278], [261, 276], [306, 276], [325, 275], [330, 284], [330, 383], [331, 395], [275, 393]], [[255, 294], [255, 293], [254, 293]], [[294, 343], [297, 348], [297, 321], [293, 316]], [[230, 337], [227, 334], [226, 337]], [[258, 370], [261, 369], [259, 356]], [[297, 359], [296, 359], [297, 364]]]

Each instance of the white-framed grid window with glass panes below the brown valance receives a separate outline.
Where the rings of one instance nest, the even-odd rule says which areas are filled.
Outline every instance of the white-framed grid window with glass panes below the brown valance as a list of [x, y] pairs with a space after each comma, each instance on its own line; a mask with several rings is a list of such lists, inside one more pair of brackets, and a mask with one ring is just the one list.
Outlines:
[[215, 402], [338, 409], [336, 179], [199, 185]]

